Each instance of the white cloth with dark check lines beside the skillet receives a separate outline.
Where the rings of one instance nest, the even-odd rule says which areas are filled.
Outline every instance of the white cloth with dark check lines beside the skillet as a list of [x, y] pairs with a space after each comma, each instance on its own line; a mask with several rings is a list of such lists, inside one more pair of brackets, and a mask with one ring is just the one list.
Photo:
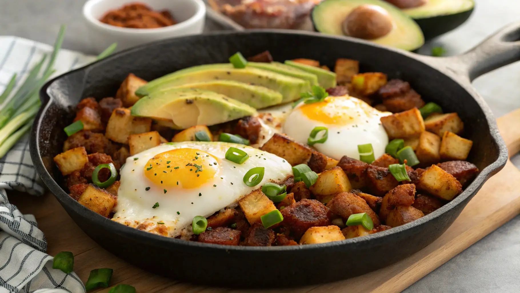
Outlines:
[[[19, 81], [53, 47], [13, 36], [0, 36], [0, 93], [13, 73]], [[47, 58], [48, 59], [48, 58]], [[56, 74], [70, 71], [95, 59], [92, 56], [61, 50], [56, 58]], [[16, 88], [15, 88], [16, 91]], [[15, 92], [13, 91], [13, 92]], [[1, 108], [1, 106], [0, 106]], [[29, 154], [29, 135], [25, 135], [0, 159], [0, 293], [85, 292], [73, 272], [53, 269], [53, 257], [46, 253], [47, 241], [31, 214], [22, 214], [7, 199], [6, 190], [19, 190], [41, 196], [44, 188]]]

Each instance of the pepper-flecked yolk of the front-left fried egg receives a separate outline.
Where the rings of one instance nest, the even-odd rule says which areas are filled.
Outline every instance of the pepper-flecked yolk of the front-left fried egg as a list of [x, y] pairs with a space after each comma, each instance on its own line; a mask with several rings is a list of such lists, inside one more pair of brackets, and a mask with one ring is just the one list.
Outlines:
[[200, 149], [178, 148], [153, 156], [145, 165], [146, 177], [157, 186], [196, 188], [218, 172], [217, 159]]

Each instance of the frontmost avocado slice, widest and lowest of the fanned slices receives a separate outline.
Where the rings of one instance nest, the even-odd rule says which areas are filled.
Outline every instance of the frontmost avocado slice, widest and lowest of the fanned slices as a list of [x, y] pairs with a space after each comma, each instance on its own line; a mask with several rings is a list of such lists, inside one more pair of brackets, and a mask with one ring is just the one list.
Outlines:
[[132, 116], [172, 121], [175, 128], [214, 125], [256, 114], [255, 108], [225, 95], [192, 88], [169, 88], [140, 98]]

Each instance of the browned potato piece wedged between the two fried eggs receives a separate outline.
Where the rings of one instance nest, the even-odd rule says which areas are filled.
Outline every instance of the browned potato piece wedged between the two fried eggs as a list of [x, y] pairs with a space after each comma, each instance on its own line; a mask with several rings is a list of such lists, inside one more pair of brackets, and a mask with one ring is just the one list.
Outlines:
[[278, 133], [275, 133], [260, 149], [284, 158], [293, 166], [306, 163], [313, 154], [313, 150], [308, 146]]

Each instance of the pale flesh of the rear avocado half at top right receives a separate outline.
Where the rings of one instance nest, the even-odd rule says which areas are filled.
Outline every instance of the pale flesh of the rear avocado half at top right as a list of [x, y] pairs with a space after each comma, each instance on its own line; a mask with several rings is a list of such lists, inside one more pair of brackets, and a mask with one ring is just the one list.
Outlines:
[[430, 18], [443, 15], [458, 14], [475, 7], [473, 0], [429, 0], [425, 5], [402, 9], [414, 19]]

